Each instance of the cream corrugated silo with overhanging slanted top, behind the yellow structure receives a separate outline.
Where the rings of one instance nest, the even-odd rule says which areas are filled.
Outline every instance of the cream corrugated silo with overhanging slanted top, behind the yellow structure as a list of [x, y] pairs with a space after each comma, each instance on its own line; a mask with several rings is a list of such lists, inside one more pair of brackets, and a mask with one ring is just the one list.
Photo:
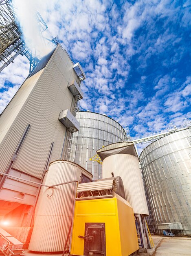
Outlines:
[[120, 176], [123, 180], [125, 198], [134, 213], [149, 215], [139, 160], [131, 142], [111, 144], [97, 151], [101, 159], [103, 178]]

